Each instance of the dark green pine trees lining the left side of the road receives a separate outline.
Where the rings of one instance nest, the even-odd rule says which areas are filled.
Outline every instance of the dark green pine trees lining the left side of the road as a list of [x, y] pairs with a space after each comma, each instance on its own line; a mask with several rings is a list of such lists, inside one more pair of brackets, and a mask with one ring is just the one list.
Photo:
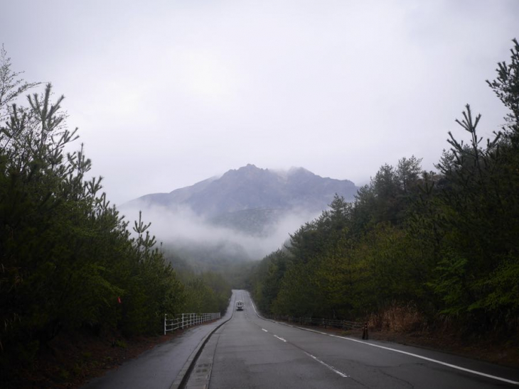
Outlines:
[[[86, 179], [83, 148], [53, 99], [16, 99], [26, 83], [0, 53], [0, 376], [31, 362], [63, 330], [156, 334], [164, 314], [218, 312], [230, 285], [220, 275], [177, 275], [149, 224], [132, 226]], [[179, 278], [182, 278], [179, 280]]]

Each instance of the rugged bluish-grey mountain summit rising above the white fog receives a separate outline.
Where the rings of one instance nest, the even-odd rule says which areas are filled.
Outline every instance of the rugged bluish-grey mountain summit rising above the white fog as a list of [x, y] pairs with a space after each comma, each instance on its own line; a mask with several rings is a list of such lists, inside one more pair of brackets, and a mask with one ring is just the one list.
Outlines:
[[305, 168], [269, 170], [248, 163], [228, 170], [219, 178], [198, 182], [168, 194], [141, 197], [150, 205], [189, 207], [203, 217], [247, 210], [326, 209], [337, 193], [353, 201], [357, 187], [348, 180], [333, 180], [315, 175]]

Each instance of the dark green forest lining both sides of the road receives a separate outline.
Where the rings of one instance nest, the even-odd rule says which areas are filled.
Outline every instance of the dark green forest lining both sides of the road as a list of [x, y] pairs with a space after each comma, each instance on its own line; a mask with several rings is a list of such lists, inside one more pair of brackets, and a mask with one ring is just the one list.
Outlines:
[[[383, 165], [355, 202], [336, 196], [282, 249], [225, 277], [194, 271], [130, 223], [88, 177], [92, 162], [63, 96], [28, 83], [0, 55], [0, 376], [77, 329], [156, 334], [164, 314], [222, 312], [230, 281], [269, 314], [519, 326], [519, 44], [487, 81], [509, 110], [483, 141], [469, 105], [437, 170]], [[43, 87], [43, 92], [24, 94]], [[23, 104], [18, 105], [18, 102]], [[468, 141], [461, 141], [468, 138]], [[171, 259], [171, 261], [170, 261]], [[173, 265], [175, 268], [173, 268]], [[177, 266], [178, 265], [178, 266]], [[222, 270], [223, 271], [223, 270]], [[248, 280], [244, 274], [248, 273]]]

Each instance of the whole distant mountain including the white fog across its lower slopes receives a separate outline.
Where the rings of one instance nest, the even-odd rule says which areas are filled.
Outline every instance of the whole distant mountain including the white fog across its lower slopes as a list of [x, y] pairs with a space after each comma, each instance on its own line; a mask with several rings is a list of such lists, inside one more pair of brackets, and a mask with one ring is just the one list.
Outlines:
[[304, 168], [269, 170], [248, 164], [170, 193], [144, 195], [119, 207], [128, 220], [142, 212], [164, 252], [193, 268], [228, 271], [260, 260], [289, 241], [340, 194], [353, 200], [348, 180]]

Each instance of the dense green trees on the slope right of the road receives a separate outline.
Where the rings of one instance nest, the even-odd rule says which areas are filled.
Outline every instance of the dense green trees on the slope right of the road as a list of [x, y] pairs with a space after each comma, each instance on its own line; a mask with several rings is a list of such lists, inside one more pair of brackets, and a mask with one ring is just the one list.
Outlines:
[[[469, 331], [519, 325], [519, 45], [488, 82], [510, 110], [486, 142], [466, 106], [437, 172], [419, 158], [383, 165], [355, 202], [301, 226], [257, 265], [263, 312], [365, 319], [395, 307]], [[419, 131], [419, 123], [417, 124]], [[403, 312], [403, 311], [401, 311]]]

